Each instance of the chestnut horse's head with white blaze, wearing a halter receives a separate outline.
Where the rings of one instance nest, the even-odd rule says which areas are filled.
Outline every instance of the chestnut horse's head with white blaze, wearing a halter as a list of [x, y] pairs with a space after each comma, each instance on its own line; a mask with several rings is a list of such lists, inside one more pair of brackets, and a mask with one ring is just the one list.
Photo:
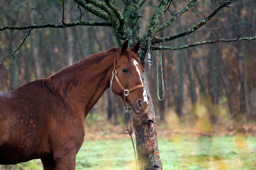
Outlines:
[[115, 54], [114, 71], [111, 79], [111, 89], [121, 96], [124, 106], [126, 102], [136, 114], [145, 112], [148, 107], [148, 98], [141, 78], [143, 67], [137, 53], [140, 42], [132, 49], [128, 49], [128, 40], [124, 42], [120, 50]]

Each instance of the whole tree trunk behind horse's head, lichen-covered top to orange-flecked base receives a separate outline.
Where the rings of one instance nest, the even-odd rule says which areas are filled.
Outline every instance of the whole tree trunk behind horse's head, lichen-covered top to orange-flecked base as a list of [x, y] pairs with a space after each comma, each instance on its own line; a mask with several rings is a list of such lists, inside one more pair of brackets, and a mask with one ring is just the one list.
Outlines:
[[[128, 0], [125, 2], [123, 12], [125, 20], [120, 22], [120, 25], [116, 24], [115, 20], [113, 20], [112, 29], [119, 46], [127, 39], [132, 40], [132, 45], [141, 40], [141, 49], [138, 57], [141, 65], [145, 68], [144, 59], [148, 47], [147, 38], [149, 37], [146, 37], [146, 39], [139, 37], [139, 5], [134, 4], [139, 4], [139, 1]], [[142, 73], [142, 80], [148, 95], [149, 105], [146, 112], [142, 115], [133, 114], [132, 116], [136, 136], [138, 165], [140, 170], [159, 169], [161, 168], [161, 161], [157, 143], [156, 116], [145, 72]], [[151, 123], [148, 120], [153, 120], [154, 122]]]

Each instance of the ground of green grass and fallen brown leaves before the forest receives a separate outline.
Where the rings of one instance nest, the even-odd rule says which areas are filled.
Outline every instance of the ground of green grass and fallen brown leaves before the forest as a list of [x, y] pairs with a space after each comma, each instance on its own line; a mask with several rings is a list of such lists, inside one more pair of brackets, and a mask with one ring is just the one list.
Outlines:
[[[85, 140], [76, 156], [76, 169], [136, 169], [131, 138], [123, 134], [125, 125], [114, 126], [97, 119], [98, 123], [86, 121]], [[158, 147], [164, 170], [255, 169], [255, 124], [239, 128], [212, 126], [211, 131], [197, 127], [178, 125], [173, 128], [166, 123], [158, 123]], [[39, 170], [42, 165], [38, 159], [0, 166], [0, 169]]]

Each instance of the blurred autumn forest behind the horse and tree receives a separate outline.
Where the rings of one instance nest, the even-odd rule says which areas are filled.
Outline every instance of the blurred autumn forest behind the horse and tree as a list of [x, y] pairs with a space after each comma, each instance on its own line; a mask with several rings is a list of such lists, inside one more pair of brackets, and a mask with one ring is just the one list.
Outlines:
[[[148, 1], [141, 9], [140, 36], [144, 35], [157, 0]], [[174, 1], [163, 14], [164, 23], [187, 1]], [[178, 17], [156, 36], [166, 37], [191, 28], [209, 15], [211, 1], [200, 1]], [[122, 5], [122, 4], [121, 4]], [[62, 9], [58, 1], [24, 0], [0, 1], [0, 27], [61, 23]], [[79, 19], [77, 5], [67, 1], [65, 21]], [[71, 12], [70, 12], [71, 11]], [[43, 13], [43, 15], [42, 15]], [[83, 20], [95, 20], [84, 11]], [[214, 29], [214, 30], [211, 30]], [[223, 8], [206, 25], [164, 46], [179, 46], [240, 36], [253, 37], [256, 30], [256, 1], [237, 1], [232, 8]], [[216, 34], [218, 33], [218, 35]], [[0, 59], [12, 54], [23, 41], [24, 30], [0, 33]], [[30, 81], [47, 78], [58, 70], [88, 57], [90, 54], [118, 46], [111, 27], [76, 26], [69, 28], [34, 29], [15, 54], [0, 64], [0, 91], [13, 90]], [[163, 133], [192, 133], [196, 135], [233, 135], [256, 133], [256, 48], [250, 41], [215, 43], [183, 50], [162, 50], [165, 99], [158, 101], [156, 89], [155, 51], [151, 51], [151, 71], [145, 67], [149, 89]], [[147, 61], [145, 61], [147, 64]], [[160, 75], [159, 75], [160, 76]], [[161, 93], [161, 88], [160, 93]], [[160, 94], [161, 96], [161, 94]], [[98, 122], [98, 123], [96, 123]], [[85, 121], [90, 130], [103, 130], [106, 125], [123, 125], [122, 101], [110, 89], [104, 93]], [[103, 125], [103, 126], [100, 126]], [[113, 130], [113, 129], [112, 129]], [[167, 132], [166, 132], [167, 131]], [[161, 132], [160, 132], [161, 133]]]

